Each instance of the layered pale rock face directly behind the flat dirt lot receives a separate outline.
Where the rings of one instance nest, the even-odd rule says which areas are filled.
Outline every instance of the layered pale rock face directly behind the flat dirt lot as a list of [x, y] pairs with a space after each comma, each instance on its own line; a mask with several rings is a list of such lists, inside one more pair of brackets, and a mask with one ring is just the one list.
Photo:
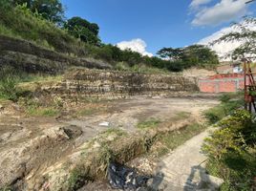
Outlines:
[[117, 71], [77, 69], [65, 80], [44, 87], [48, 94], [75, 97], [123, 98], [127, 96], [162, 96], [197, 91], [193, 77], [168, 74], [135, 74]]

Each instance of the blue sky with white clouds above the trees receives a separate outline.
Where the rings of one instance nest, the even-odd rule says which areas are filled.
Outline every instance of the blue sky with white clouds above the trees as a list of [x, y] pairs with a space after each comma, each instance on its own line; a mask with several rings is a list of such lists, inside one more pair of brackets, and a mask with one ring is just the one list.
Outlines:
[[243, 16], [255, 16], [256, 1], [246, 1], [61, 0], [67, 18], [80, 16], [99, 26], [103, 43], [150, 56], [163, 47], [205, 43]]

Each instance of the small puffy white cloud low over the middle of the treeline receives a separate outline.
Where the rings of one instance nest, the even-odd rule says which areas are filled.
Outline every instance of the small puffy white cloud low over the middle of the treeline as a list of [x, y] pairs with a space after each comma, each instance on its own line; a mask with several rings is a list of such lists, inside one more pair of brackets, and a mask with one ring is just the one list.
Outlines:
[[131, 41], [119, 42], [119, 43], [117, 43], [117, 47], [120, 50], [130, 49], [131, 51], [141, 53], [142, 55], [147, 55], [147, 56], [150, 56], [150, 57], [153, 56], [153, 53], [146, 52], [147, 44], [145, 43], [145, 41], [143, 41], [140, 38], [133, 39]]

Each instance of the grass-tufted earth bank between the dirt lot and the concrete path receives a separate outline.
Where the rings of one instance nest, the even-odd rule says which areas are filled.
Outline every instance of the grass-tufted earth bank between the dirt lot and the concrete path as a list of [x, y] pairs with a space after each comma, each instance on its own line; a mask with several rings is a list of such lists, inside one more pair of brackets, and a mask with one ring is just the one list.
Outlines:
[[111, 161], [125, 163], [141, 155], [152, 155], [152, 152], [155, 154], [154, 147], [160, 142], [161, 147], [156, 151], [159, 157], [205, 130], [205, 126], [195, 123], [183, 126], [176, 131], [172, 129], [158, 131], [158, 124], [160, 121], [155, 118], [147, 120], [142, 125], [144, 131], [133, 135], [128, 135], [118, 128], [109, 128], [99, 134], [84, 147], [81, 153], [82, 164], [77, 165], [72, 172], [68, 180], [69, 187], [78, 188], [83, 185], [81, 182], [105, 179], [107, 167]]

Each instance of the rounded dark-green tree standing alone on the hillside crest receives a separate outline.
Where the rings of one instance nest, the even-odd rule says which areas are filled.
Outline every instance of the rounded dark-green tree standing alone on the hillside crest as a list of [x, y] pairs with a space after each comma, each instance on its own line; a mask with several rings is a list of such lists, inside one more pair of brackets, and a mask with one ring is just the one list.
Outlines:
[[65, 23], [64, 28], [83, 42], [93, 45], [100, 44], [98, 38], [99, 27], [96, 23], [90, 23], [81, 17], [73, 17]]

